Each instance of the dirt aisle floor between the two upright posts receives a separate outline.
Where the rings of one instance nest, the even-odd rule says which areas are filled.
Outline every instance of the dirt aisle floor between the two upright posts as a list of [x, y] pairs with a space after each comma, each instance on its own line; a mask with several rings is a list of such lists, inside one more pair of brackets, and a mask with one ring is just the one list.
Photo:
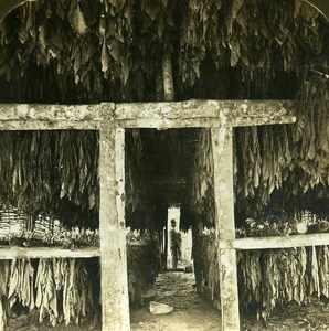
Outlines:
[[[159, 274], [152, 296], [140, 309], [131, 310], [131, 331], [220, 330], [220, 311], [200, 297], [192, 273]], [[168, 314], [152, 314], [149, 301], [170, 305]]]

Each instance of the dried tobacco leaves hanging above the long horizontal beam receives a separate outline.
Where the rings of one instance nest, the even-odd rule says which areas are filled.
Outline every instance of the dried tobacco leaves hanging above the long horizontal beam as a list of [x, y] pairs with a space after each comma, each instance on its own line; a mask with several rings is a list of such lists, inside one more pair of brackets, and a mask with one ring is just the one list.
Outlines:
[[325, 50], [325, 25], [301, 0], [28, 1], [0, 26], [0, 75], [20, 82], [38, 66], [46, 79], [31, 95], [52, 82], [59, 97], [73, 84], [93, 100], [142, 98], [170, 52], [180, 90], [194, 86], [206, 58], [266, 89], [283, 72], [304, 77]]

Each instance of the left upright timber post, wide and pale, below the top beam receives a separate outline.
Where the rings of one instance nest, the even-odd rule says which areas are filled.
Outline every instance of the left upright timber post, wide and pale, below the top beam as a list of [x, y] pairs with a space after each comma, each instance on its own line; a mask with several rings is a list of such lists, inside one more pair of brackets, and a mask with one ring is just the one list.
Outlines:
[[125, 130], [100, 130], [102, 330], [129, 331], [125, 233]]

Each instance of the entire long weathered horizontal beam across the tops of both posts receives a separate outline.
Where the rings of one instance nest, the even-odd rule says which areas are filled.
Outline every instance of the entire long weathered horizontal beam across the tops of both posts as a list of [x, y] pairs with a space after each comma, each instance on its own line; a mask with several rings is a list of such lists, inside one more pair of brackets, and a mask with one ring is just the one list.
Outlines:
[[187, 100], [95, 105], [0, 104], [0, 130], [241, 127], [296, 121], [289, 100]]

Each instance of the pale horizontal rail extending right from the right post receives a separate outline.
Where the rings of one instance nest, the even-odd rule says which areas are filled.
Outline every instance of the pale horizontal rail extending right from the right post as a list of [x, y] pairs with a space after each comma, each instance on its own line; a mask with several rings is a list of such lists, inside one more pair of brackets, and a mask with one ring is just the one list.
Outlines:
[[269, 249], [322, 245], [329, 245], [329, 233], [237, 238], [231, 243], [224, 243], [223, 246], [236, 249]]

